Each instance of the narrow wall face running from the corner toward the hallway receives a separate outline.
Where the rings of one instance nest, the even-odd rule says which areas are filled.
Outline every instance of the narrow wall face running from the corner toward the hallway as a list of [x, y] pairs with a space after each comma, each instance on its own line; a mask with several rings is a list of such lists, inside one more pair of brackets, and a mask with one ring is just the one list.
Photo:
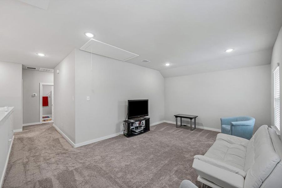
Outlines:
[[54, 68], [54, 126], [73, 143], [75, 143], [74, 68], [75, 50]]

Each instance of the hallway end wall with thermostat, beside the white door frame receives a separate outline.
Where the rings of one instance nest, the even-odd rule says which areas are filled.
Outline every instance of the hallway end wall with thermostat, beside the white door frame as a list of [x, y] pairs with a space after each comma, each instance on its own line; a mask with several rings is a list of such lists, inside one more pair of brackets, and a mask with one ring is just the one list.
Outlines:
[[[53, 83], [53, 75], [53, 72], [23, 69], [23, 124], [40, 122], [39, 83]], [[37, 96], [32, 97], [33, 93]]]

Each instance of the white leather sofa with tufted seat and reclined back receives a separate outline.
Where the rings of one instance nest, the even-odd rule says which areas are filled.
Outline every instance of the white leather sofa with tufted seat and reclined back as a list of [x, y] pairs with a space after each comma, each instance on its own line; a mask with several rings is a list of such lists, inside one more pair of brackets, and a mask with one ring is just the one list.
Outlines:
[[195, 155], [197, 180], [213, 188], [282, 188], [282, 144], [261, 126], [250, 140], [219, 133], [205, 155]]

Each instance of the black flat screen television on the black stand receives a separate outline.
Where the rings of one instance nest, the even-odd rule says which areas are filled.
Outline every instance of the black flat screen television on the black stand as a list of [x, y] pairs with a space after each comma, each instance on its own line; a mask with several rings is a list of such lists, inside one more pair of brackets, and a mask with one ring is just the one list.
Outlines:
[[141, 118], [149, 115], [148, 99], [128, 100], [128, 119]]

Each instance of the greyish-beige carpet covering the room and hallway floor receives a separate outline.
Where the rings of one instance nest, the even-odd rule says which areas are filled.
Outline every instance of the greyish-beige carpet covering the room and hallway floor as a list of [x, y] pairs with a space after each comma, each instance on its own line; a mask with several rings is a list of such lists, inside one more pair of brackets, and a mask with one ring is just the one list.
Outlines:
[[205, 154], [217, 133], [161, 123], [73, 148], [52, 123], [26, 126], [15, 133], [3, 188], [178, 188], [184, 179], [199, 186], [193, 156]]

